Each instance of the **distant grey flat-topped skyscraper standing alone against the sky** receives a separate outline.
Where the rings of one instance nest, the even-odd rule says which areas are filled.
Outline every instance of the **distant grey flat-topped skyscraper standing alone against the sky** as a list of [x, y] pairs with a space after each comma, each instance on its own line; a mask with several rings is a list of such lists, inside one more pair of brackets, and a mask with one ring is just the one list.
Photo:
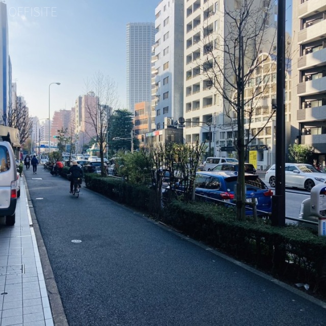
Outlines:
[[153, 22], [127, 23], [127, 110], [134, 104], [151, 101], [151, 52], [154, 44]]

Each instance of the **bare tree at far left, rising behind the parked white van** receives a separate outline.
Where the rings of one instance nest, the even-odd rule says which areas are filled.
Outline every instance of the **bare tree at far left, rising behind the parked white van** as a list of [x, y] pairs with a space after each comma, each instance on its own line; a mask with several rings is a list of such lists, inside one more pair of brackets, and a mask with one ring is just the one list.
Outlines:
[[29, 109], [20, 97], [16, 97], [14, 103], [9, 103], [6, 117], [8, 127], [19, 130], [19, 142], [23, 145], [32, 134], [33, 121], [29, 116]]

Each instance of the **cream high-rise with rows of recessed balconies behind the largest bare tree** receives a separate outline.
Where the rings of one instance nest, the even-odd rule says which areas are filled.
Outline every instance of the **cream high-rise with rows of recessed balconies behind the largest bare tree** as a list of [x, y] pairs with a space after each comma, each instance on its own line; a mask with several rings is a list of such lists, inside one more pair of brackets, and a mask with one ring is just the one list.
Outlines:
[[[199, 139], [206, 142], [207, 147], [211, 144], [211, 148], [207, 148], [210, 154], [236, 156], [237, 115], [224, 97], [232, 99], [236, 96], [232, 64], [238, 60], [236, 55], [232, 60], [226, 54], [227, 49], [232, 53], [236, 36], [228, 13], [238, 15], [242, 3], [188, 0], [185, 6], [184, 140], [193, 143]], [[249, 10], [253, 12], [252, 19], [257, 21], [263, 19], [262, 13], [266, 14], [266, 31], [262, 44], [250, 44], [244, 56], [253, 57], [257, 49], [260, 53], [270, 53], [276, 41], [276, 7], [257, 0]], [[237, 54], [238, 49], [234, 53]], [[250, 60], [244, 60], [246, 72], [251, 68], [249, 63]], [[220, 68], [216, 69], [218, 66]], [[260, 74], [262, 76], [262, 72]], [[223, 90], [224, 96], [217, 88]]]

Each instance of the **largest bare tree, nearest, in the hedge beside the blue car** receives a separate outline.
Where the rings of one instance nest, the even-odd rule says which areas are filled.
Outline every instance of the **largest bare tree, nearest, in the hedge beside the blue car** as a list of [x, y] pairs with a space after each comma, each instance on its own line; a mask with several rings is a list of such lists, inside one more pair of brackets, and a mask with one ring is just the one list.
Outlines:
[[[268, 56], [259, 56], [262, 48], [270, 53], [275, 39], [275, 29], [268, 30], [273, 15], [270, 14], [269, 0], [224, 0], [224, 36], [219, 31], [212, 32], [211, 26], [203, 26], [203, 57], [201, 66], [209, 85], [223, 98], [225, 124], [231, 128], [233, 144], [237, 150], [239, 171], [237, 178], [236, 207], [237, 219], [246, 219], [246, 192], [244, 186], [244, 161], [248, 146], [264, 129], [274, 115], [270, 110], [257, 133], [247, 135], [244, 130], [244, 118], [247, 118], [249, 130], [251, 118], [259, 101], [265, 97], [267, 85], [255, 78], [256, 72]], [[206, 13], [206, 12], [205, 12]], [[204, 17], [209, 17], [210, 8]], [[267, 46], [266, 46], [267, 44]], [[269, 46], [268, 46], [269, 44]], [[270, 71], [269, 71], [270, 73]], [[247, 90], [246, 94], [245, 91]], [[232, 121], [236, 117], [236, 124]]]

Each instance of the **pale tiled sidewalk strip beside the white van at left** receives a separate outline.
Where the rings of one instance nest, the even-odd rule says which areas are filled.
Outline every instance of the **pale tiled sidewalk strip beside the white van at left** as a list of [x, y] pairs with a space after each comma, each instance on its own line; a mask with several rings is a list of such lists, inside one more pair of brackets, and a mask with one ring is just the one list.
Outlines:
[[16, 223], [0, 226], [0, 326], [53, 326], [40, 255], [21, 178]]

